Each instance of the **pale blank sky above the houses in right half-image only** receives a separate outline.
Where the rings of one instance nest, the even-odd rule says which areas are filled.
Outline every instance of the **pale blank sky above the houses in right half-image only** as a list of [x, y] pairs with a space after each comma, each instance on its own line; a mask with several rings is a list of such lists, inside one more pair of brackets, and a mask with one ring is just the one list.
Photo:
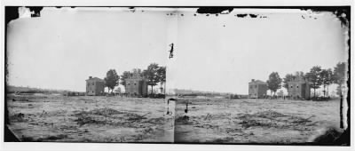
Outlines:
[[[272, 72], [282, 78], [313, 66], [334, 68], [347, 60], [347, 30], [331, 13], [234, 11], [178, 17], [169, 87], [248, 94], [251, 79], [265, 82]], [[248, 12], [266, 18], [235, 16]]]

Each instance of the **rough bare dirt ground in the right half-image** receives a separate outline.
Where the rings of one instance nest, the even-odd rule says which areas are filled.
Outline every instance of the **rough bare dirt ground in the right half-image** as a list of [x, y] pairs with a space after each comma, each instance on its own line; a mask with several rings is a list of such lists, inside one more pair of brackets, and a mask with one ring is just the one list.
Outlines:
[[327, 127], [339, 128], [339, 107], [339, 100], [179, 99], [174, 137], [179, 143], [305, 143]]

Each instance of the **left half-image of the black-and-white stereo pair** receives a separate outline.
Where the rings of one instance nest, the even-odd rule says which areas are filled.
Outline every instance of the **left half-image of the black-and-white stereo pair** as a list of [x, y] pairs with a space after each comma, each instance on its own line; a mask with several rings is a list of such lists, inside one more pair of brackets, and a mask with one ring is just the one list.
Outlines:
[[[169, 18], [108, 7], [9, 7], [8, 128], [20, 141], [172, 142]], [[6, 139], [6, 138], [5, 138]]]

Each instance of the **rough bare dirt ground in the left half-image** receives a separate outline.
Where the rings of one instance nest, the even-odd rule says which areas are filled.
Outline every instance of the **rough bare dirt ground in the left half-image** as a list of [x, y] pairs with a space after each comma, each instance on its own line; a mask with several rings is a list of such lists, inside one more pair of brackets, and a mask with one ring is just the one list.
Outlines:
[[173, 115], [167, 115], [164, 99], [10, 94], [7, 101], [9, 128], [22, 141], [173, 142], [174, 139]]

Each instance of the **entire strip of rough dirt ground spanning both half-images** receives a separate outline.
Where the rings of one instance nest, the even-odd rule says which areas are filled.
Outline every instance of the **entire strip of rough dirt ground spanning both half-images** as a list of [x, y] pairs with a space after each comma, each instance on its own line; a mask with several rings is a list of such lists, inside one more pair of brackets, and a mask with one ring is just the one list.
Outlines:
[[9, 128], [22, 141], [292, 144], [340, 121], [339, 100], [198, 97], [170, 101], [169, 112], [164, 99], [10, 94], [7, 101]]

